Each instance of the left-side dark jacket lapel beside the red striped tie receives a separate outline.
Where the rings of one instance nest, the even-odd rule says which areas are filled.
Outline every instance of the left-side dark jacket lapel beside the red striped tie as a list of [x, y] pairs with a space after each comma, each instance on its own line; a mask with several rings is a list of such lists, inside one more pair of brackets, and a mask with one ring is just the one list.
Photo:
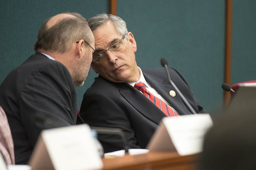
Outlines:
[[152, 122], [159, 124], [165, 114], [136, 88], [128, 83], [115, 83], [120, 88], [120, 94], [141, 114]]

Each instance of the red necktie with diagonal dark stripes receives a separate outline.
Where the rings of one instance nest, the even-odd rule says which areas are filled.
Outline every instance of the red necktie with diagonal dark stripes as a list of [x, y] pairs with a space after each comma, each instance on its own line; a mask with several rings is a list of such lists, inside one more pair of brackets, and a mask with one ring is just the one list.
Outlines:
[[151, 94], [146, 88], [143, 82], [138, 82], [134, 85], [134, 88], [137, 88], [139, 91], [143, 93], [145, 97], [147, 97], [154, 105], [156, 105], [166, 116], [179, 116], [169, 105], [166, 105], [163, 100], [157, 98], [153, 94]]

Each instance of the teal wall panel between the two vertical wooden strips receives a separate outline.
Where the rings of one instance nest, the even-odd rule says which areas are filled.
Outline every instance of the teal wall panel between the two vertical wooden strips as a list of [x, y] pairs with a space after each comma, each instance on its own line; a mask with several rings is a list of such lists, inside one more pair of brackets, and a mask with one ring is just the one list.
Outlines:
[[117, 0], [117, 15], [137, 41], [140, 67], [179, 70], [209, 112], [223, 102], [225, 0]]

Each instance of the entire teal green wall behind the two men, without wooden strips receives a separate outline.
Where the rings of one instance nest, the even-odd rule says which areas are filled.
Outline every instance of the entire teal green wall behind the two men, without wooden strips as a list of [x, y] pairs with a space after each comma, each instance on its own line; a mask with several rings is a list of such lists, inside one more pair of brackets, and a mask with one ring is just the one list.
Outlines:
[[[117, 0], [117, 15], [137, 41], [141, 68], [178, 69], [201, 105], [215, 113], [223, 103], [225, 0]], [[255, 79], [256, 1], [233, 0], [232, 84]], [[0, 82], [31, 54], [41, 23], [50, 16], [76, 11], [89, 18], [108, 13], [108, 0], [1, 0]], [[90, 69], [77, 89], [78, 108], [97, 75]]]

